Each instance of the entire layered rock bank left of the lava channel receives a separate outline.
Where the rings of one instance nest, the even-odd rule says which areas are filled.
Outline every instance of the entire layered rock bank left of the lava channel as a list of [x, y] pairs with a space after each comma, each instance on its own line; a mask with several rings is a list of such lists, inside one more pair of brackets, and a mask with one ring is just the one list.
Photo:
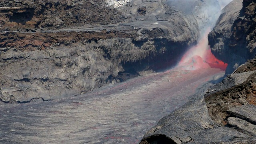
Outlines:
[[216, 17], [204, 16], [208, 3], [217, 14], [212, 0], [186, 1], [196, 6], [190, 10], [164, 0], [133, 0], [118, 9], [102, 0], [1, 1], [0, 100], [83, 94], [174, 66], [203, 22]]

